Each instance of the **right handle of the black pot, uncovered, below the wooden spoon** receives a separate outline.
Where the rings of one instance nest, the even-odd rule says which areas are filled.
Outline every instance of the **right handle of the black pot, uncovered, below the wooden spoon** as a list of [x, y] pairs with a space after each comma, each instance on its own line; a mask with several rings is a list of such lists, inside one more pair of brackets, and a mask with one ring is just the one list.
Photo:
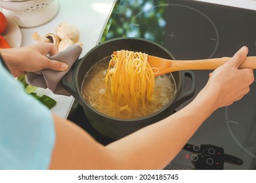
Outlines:
[[[188, 99], [192, 98], [196, 91], [196, 76], [194, 75], [194, 73], [189, 70], [181, 71], [181, 75], [182, 75], [181, 91], [179, 92], [179, 95], [177, 96], [177, 98], [175, 99], [175, 102], [173, 103], [173, 105], [175, 105], [176, 108], [182, 105], [182, 103], [184, 103]], [[188, 91], [185, 90], [185, 86], [186, 86], [185, 77], [191, 78], [192, 80], [191, 88]]]

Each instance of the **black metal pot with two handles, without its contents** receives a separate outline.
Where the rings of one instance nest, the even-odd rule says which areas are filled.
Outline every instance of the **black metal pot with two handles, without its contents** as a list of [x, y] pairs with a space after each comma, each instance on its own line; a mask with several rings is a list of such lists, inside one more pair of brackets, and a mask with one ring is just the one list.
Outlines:
[[[74, 98], [81, 104], [84, 109], [87, 120], [95, 127], [97, 131], [111, 137], [112, 139], [120, 139], [125, 137], [146, 125], [154, 124], [163, 118], [173, 114], [175, 108], [190, 99], [195, 92], [196, 79], [194, 73], [191, 71], [173, 72], [173, 78], [177, 86], [177, 93], [172, 101], [165, 108], [160, 111], [146, 116], [144, 118], [123, 120], [112, 118], [101, 114], [92, 108], [81, 95], [81, 87], [85, 74], [95, 65], [100, 59], [110, 56], [116, 50], [131, 50], [135, 52], [145, 52], [146, 54], [159, 56], [162, 58], [174, 59], [174, 57], [165, 48], [152, 41], [138, 38], [118, 38], [98, 44], [95, 48], [90, 50], [83, 58], [77, 60], [74, 69], [62, 79], [64, 88], [68, 90]], [[66, 80], [72, 75], [72, 80]], [[190, 90], [185, 91], [185, 78], [191, 78], [192, 84]]]

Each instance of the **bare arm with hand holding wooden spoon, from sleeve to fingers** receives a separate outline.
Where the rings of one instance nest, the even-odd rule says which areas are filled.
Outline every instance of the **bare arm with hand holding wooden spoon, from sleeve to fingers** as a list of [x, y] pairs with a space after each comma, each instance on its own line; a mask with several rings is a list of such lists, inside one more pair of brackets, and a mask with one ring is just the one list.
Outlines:
[[244, 47], [211, 73], [205, 88], [186, 107], [108, 146], [54, 116], [56, 144], [50, 169], [163, 169], [212, 112], [249, 92], [253, 71], [238, 69], [246, 55]]

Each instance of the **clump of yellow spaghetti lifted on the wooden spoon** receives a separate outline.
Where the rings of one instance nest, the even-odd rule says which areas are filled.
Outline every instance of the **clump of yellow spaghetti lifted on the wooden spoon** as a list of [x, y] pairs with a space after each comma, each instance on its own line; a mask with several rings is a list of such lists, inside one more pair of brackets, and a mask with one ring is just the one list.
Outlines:
[[[138, 108], [139, 103], [145, 108], [146, 101], [152, 101], [154, 73], [147, 58], [147, 54], [125, 50], [112, 55], [105, 82], [110, 82], [114, 101], [120, 110]], [[125, 105], [119, 102], [123, 100]]]

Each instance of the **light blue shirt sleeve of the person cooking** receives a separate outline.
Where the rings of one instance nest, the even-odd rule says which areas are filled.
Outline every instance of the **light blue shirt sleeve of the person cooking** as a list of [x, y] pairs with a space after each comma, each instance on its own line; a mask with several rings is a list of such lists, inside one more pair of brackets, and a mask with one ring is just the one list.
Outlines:
[[48, 169], [53, 116], [0, 63], [0, 169]]

